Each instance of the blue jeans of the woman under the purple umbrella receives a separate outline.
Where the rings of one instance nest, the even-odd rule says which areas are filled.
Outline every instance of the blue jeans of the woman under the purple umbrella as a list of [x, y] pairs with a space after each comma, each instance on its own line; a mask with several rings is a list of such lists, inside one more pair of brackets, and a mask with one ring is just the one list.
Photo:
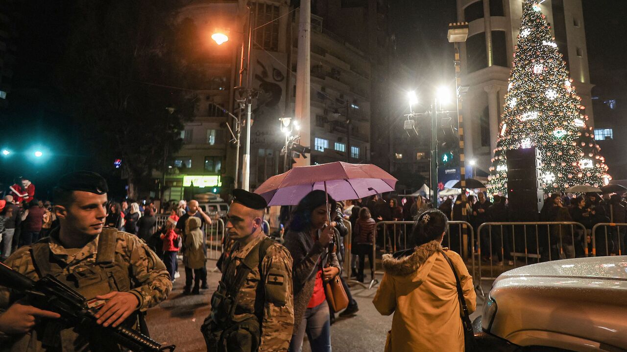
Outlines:
[[326, 300], [314, 308], [307, 308], [298, 331], [292, 335], [289, 352], [302, 351], [305, 331], [312, 352], [331, 352], [331, 322]]

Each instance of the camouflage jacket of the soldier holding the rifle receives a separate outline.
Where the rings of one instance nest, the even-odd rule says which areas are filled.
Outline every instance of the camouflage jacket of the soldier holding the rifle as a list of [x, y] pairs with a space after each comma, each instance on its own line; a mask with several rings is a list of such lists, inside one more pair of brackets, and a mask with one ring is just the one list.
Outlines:
[[[116, 237], [115, 256], [121, 257], [122, 261], [129, 266], [131, 289], [128, 292], [137, 298], [139, 302], [137, 309], [145, 311], [164, 301], [170, 294], [172, 282], [161, 259], [137, 236], [118, 231]], [[80, 271], [85, 267], [97, 265], [95, 261], [99, 238], [99, 236], [96, 237], [76, 252], [63, 247], [58, 239], [58, 229], [56, 229], [50, 234], [48, 246], [55, 259], [67, 264], [63, 271], [74, 272], [75, 269]], [[31, 246], [21, 247], [11, 254], [4, 264], [35, 281], [40, 279], [31, 256]], [[6, 311], [14, 301], [20, 298], [11, 293], [6, 287], [0, 286], [0, 313]], [[8, 338], [9, 336], [0, 333], [0, 344]]]

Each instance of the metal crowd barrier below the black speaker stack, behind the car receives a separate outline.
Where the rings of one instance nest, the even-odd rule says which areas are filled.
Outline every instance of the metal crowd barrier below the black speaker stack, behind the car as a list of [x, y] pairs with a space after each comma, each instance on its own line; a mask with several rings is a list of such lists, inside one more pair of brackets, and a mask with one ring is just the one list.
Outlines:
[[[589, 251], [584, 243], [586, 227], [579, 222], [485, 222], [478, 227], [477, 234], [479, 266], [478, 276], [474, 277], [478, 282], [496, 279], [498, 274], [530, 264], [530, 261], [533, 264], [594, 253], [594, 241]], [[493, 242], [497, 242], [496, 246]], [[483, 256], [482, 247], [488, 247]], [[498, 258], [496, 263], [494, 256]], [[522, 265], [519, 265], [520, 257], [524, 258]], [[489, 274], [484, 275], [482, 261], [489, 262]], [[500, 272], [495, 271], [495, 267], [500, 267]]]

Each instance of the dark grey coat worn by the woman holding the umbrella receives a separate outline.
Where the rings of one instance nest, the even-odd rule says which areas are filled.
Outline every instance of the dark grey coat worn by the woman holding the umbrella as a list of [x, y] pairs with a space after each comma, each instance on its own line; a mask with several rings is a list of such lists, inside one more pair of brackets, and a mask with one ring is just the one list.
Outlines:
[[303, 314], [307, 310], [312, 294], [314, 294], [315, 277], [320, 268], [320, 258], [322, 266], [327, 262], [330, 266], [340, 269], [340, 263], [335, 253], [327, 256], [327, 249], [322, 244], [310, 236], [308, 232], [288, 231], [283, 244], [290, 254], [292, 254], [292, 281], [294, 292], [294, 329], [298, 331], [298, 325], [303, 319]]

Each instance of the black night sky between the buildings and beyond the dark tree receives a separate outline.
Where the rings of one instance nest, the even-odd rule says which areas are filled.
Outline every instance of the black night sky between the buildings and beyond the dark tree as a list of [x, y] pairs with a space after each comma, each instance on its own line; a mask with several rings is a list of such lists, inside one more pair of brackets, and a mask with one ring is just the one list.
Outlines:
[[[388, 3], [389, 29], [396, 36], [396, 52], [417, 74], [417, 86], [407, 88], [420, 91], [452, 83], [453, 46], [446, 40], [446, 31], [448, 23], [456, 21], [456, 1], [389, 0]], [[9, 11], [16, 22], [18, 52], [10, 105], [4, 111], [9, 119], [3, 121], [4, 135], [0, 142], [24, 150], [41, 143], [53, 148], [56, 155], [45, 165], [34, 165], [28, 160], [3, 163], [0, 182], [6, 184], [23, 174], [38, 179], [43, 186], [52, 181], [48, 175], [90, 165], [90, 155], [78, 148], [79, 136], [67, 128], [71, 119], [55, 103], [56, 97], [63, 94], [56, 90], [53, 81], [60, 74], [56, 63], [64, 53], [71, 6], [68, 6], [70, 2], [41, 0], [14, 4], [20, 6], [18, 11]], [[627, 90], [624, 80], [627, 41], [623, 39], [627, 1], [583, 0], [583, 4], [591, 81], [596, 84], [593, 95], [621, 101]], [[618, 70], [622, 70], [622, 75], [616, 74]]]

